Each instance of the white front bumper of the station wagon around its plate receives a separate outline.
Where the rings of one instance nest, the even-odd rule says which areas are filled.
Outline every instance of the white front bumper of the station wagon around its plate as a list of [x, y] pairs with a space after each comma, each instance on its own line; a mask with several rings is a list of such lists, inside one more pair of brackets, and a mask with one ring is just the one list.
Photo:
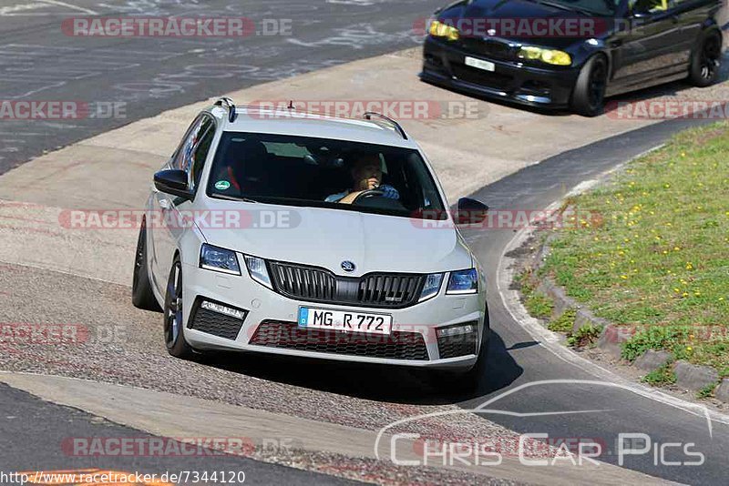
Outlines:
[[[239, 255], [240, 261], [243, 261]], [[289, 299], [242, 276], [226, 275], [183, 265], [185, 339], [200, 350], [241, 350], [409, 367], [468, 369], [477, 359], [483, 336], [486, 298], [440, 294], [405, 309], [367, 309]], [[243, 310], [242, 319], [200, 311], [201, 300]], [[387, 313], [393, 317], [392, 335], [354, 335], [301, 329], [296, 325], [300, 306]], [[200, 322], [202, 324], [200, 324]], [[472, 348], [438, 339], [437, 328], [472, 323], [477, 328]], [[327, 334], [328, 333], [328, 334]], [[336, 334], [336, 335], [334, 335]], [[276, 339], [279, 339], [277, 342]], [[389, 339], [386, 342], [378, 339]], [[366, 342], [365, 342], [366, 341]], [[467, 349], [467, 351], [464, 351]], [[444, 357], [442, 355], [447, 355]]]

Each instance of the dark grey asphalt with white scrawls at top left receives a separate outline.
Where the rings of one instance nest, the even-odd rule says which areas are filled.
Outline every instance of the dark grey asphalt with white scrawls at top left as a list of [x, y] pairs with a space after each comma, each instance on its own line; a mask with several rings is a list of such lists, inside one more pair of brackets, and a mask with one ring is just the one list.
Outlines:
[[[417, 46], [440, 0], [74, 0], [0, 5], [0, 100], [88, 103], [94, 117], [0, 120], [0, 174], [47, 150], [192, 102]], [[246, 37], [87, 37], [73, 17], [239, 16]], [[280, 35], [262, 35], [266, 32]], [[284, 96], [285, 97], [285, 96]], [[253, 100], [247, 100], [253, 101]], [[103, 103], [121, 105], [107, 106]], [[118, 106], [118, 107], [117, 107]], [[96, 111], [98, 110], [98, 111]]]

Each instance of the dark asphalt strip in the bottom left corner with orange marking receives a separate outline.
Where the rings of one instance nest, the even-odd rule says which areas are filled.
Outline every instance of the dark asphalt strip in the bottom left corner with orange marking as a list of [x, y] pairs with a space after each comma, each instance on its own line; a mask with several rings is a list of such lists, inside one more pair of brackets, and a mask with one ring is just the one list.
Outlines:
[[[37, 399], [25, 391], [0, 384], [0, 474], [11, 471], [118, 471], [125, 473], [157, 474], [158, 480], [167, 473], [190, 478], [180, 484], [192, 483], [197, 474], [206, 472], [210, 477], [216, 471], [219, 481], [200, 481], [202, 484], [220, 483], [225, 477], [233, 484], [355, 484], [334, 476], [302, 471], [277, 464], [253, 461], [216, 453], [204, 447], [188, 447], [165, 442], [169, 455], [93, 456], [81, 454], [94, 446], [85, 440], [98, 438], [102, 447], [114, 450], [114, 440], [138, 440], [146, 448], [153, 444], [153, 436], [133, 430], [81, 410], [62, 407]], [[74, 440], [80, 447], [74, 448]], [[121, 442], [119, 442], [121, 443]], [[108, 445], [106, 445], [108, 444]], [[116, 451], [120, 451], [117, 448]], [[189, 471], [187, 476], [184, 471]], [[224, 471], [224, 475], [221, 474]], [[243, 475], [241, 475], [241, 472]], [[80, 472], [79, 472], [80, 474]], [[241, 481], [242, 480], [242, 481]], [[3, 484], [12, 484], [8, 479]], [[19, 484], [19, 483], [17, 483]]]

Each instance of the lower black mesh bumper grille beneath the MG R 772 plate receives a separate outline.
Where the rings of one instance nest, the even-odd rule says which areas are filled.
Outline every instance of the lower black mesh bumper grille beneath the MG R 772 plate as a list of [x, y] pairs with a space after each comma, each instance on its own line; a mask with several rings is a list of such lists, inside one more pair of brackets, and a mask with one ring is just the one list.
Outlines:
[[368, 358], [428, 359], [426, 341], [419, 332], [393, 331], [389, 336], [299, 328], [295, 322], [264, 320], [249, 344]]

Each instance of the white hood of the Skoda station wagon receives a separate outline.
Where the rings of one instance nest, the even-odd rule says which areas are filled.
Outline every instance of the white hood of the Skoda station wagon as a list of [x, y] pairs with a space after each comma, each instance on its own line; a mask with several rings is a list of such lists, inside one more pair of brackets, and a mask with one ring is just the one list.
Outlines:
[[[463, 238], [450, 225], [424, 228], [411, 218], [217, 199], [208, 199], [206, 206], [241, 213], [243, 221], [241, 228], [200, 228], [207, 242], [256, 257], [328, 268], [350, 277], [374, 271], [433, 273], [473, 265]], [[272, 223], [276, 220], [281, 224]], [[344, 260], [354, 263], [354, 271], [342, 270]]]

